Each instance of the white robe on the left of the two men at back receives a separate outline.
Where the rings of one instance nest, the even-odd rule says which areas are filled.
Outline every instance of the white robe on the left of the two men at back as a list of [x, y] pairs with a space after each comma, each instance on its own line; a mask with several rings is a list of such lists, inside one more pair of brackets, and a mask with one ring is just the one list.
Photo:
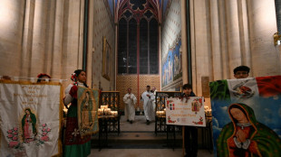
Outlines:
[[123, 97], [123, 101], [125, 103], [125, 117], [130, 121], [133, 121], [135, 119], [135, 104], [137, 103], [137, 97], [132, 93], [127, 93]]

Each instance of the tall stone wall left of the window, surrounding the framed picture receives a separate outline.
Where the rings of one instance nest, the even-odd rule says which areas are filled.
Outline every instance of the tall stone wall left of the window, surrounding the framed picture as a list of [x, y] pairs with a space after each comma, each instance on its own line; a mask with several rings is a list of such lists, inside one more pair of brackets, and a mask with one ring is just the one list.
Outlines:
[[[108, 1], [96, 0], [90, 1], [91, 3], [91, 15], [90, 15], [90, 29], [89, 32], [89, 50], [92, 50], [92, 84], [94, 88], [99, 87], [99, 82], [103, 90], [109, 91], [115, 89], [115, 32], [114, 21]], [[102, 77], [102, 38], [105, 37], [111, 46], [110, 55], [110, 80]], [[89, 45], [90, 46], [90, 45]], [[90, 51], [91, 52], [91, 51]]]

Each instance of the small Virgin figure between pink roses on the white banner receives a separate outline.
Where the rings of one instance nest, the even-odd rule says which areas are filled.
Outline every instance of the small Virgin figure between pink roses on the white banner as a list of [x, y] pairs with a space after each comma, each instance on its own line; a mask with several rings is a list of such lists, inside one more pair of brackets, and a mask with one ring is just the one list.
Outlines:
[[31, 112], [30, 108], [24, 110], [25, 114], [22, 118], [23, 141], [29, 143], [34, 141], [37, 135], [36, 130], [36, 116]]

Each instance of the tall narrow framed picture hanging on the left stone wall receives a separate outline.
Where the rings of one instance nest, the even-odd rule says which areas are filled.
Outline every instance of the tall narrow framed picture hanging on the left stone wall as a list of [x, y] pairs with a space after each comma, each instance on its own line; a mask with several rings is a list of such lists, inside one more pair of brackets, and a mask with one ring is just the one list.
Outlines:
[[102, 77], [106, 78], [108, 80], [111, 80], [111, 45], [106, 40], [105, 37], [103, 37], [103, 47], [102, 47]]

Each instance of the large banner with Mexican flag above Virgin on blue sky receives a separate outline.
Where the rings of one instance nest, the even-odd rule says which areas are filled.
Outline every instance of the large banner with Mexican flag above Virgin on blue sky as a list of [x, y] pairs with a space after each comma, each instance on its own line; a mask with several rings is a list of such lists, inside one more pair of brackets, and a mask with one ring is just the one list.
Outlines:
[[281, 76], [209, 87], [215, 156], [281, 156]]

